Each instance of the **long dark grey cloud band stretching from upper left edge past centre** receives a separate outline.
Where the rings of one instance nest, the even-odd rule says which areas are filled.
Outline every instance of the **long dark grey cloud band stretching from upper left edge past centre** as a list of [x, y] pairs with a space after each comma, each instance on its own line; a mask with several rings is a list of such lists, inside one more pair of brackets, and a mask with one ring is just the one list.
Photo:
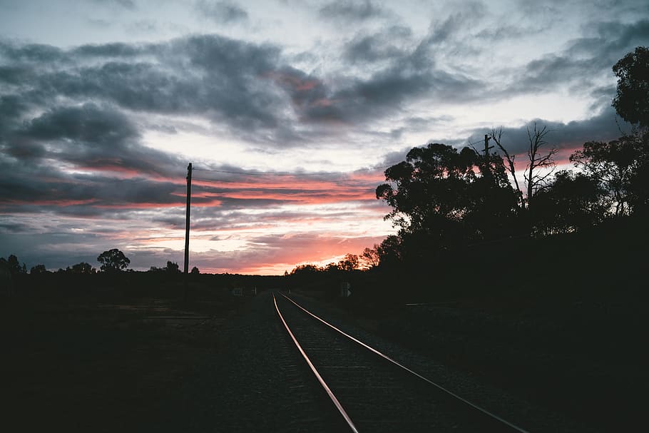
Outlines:
[[[297, 146], [322, 133], [316, 123], [351, 125], [394, 113], [407, 101], [474, 97], [481, 83], [436, 68], [435, 44], [446, 27], [431, 29], [414, 47], [409, 30], [398, 26], [350, 41], [347, 61], [373, 72], [342, 78], [335, 88], [289, 66], [278, 46], [217, 35], [71, 50], [4, 43], [0, 80], [21, 95], [23, 111], [60, 98], [103, 102], [138, 113], [208, 117], [250, 143]], [[396, 39], [401, 46], [390, 44]], [[380, 67], [366, 68], [380, 58]]]

